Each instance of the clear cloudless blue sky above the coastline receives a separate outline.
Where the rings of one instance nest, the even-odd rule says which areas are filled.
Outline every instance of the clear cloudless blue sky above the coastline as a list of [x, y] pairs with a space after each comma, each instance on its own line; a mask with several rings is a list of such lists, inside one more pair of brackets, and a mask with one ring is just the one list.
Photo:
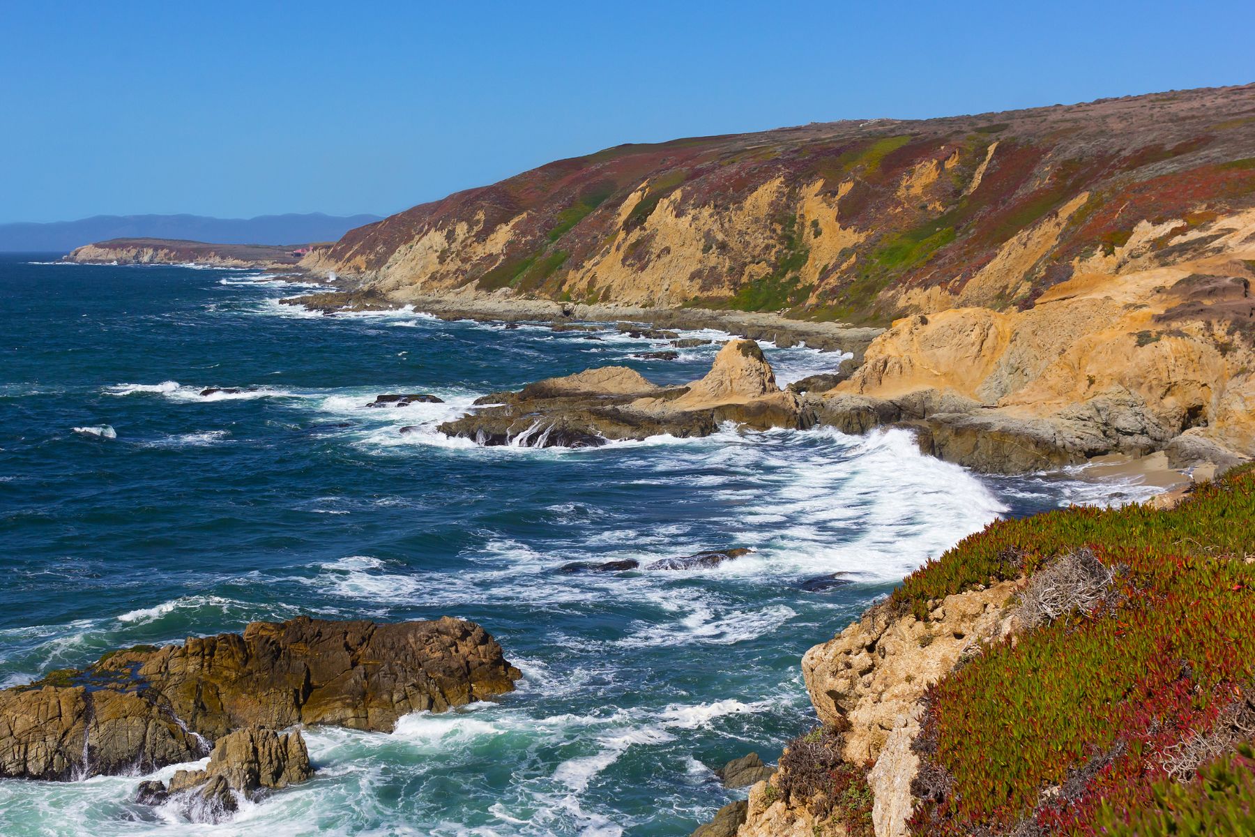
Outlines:
[[0, 222], [389, 213], [622, 142], [1255, 80], [1255, 5], [41, 3]]

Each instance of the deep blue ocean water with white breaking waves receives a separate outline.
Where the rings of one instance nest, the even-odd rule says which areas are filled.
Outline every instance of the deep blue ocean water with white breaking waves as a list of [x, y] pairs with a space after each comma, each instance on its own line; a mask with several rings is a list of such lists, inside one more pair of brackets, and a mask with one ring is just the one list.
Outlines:
[[[596, 365], [692, 380], [717, 346], [644, 361], [612, 326], [326, 317], [279, 305], [285, 279], [46, 259], [0, 256], [0, 685], [297, 614], [471, 619], [525, 679], [392, 734], [309, 730], [316, 778], [218, 826], [134, 804], [137, 777], [0, 782], [10, 837], [688, 834], [735, 797], [712, 765], [814, 723], [806, 649], [905, 573], [999, 514], [1146, 493], [976, 477], [901, 430], [479, 448], [434, 425]], [[764, 348], [782, 383], [840, 361]], [[446, 403], [365, 407], [397, 392]], [[756, 552], [556, 572], [734, 546]], [[798, 589], [836, 571], [855, 584]]]

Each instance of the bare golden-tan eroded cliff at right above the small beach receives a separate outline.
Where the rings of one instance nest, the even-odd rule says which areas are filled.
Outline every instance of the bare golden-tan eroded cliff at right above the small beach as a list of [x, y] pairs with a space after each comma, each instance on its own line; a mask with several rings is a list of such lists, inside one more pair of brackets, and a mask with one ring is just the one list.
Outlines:
[[[965, 403], [979, 417], [973, 430], [1045, 440], [1062, 462], [1160, 449], [1175, 464], [1251, 456], [1255, 211], [1202, 223], [1181, 233], [1175, 256], [1157, 255], [1153, 242], [1173, 223], [1141, 223], [1111, 255], [1077, 260], [1033, 307], [896, 321], [832, 393], [836, 403]], [[953, 423], [937, 429], [939, 444], [958, 444]], [[975, 449], [965, 464], [996, 466]]]

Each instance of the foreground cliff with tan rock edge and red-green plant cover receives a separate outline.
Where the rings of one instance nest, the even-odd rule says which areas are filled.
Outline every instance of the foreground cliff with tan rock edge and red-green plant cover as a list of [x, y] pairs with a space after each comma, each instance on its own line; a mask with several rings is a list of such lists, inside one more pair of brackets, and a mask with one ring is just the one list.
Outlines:
[[1250, 468], [964, 540], [806, 654], [821, 727], [722, 833], [1250, 833], [1252, 542]]

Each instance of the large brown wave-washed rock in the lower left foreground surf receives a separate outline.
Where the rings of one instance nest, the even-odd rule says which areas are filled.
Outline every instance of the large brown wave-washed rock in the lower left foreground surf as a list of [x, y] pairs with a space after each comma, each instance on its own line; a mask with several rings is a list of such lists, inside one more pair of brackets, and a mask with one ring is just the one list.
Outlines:
[[254, 724], [390, 732], [408, 713], [511, 691], [518, 676], [496, 640], [457, 619], [254, 622], [0, 691], [0, 777], [156, 769]]

